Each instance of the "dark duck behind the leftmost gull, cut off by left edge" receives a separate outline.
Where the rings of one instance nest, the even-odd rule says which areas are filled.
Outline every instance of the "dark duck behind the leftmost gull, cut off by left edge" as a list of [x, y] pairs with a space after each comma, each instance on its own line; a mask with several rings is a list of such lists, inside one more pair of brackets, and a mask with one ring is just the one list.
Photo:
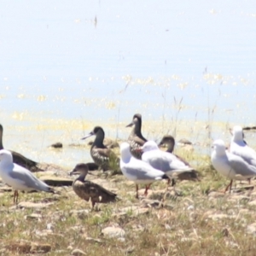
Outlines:
[[[0, 149], [3, 149], [3, 125], [0, 125]], [[9, 150], [13, 154], [14, 163], [23, 166], [31, 172], [42, 172], [44, 170], [38, 167], [38, 162], [26, 158], [24, 155]]]

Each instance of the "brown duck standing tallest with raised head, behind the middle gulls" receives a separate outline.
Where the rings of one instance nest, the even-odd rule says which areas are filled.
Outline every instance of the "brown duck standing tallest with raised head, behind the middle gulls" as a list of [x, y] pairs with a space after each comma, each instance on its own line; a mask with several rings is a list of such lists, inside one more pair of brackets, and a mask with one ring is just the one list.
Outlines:
[[147, 140], [142, 135], [142, 115], [140, 113], [136, 113], [132, 122], [126, 127], [132, 127], [131, 134], [128, 137], [128, 143], [130, 144], [131, 154], [137, 159], [142, 159], [142, 152], [137, 150], [137, 148], [141, 148]]

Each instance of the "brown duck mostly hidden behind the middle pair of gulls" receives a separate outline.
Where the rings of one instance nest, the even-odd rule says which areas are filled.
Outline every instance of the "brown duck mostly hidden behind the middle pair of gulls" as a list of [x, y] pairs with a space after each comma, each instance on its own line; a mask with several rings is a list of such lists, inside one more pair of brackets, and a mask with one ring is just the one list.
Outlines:
[[[175, 147], [175, 139], [172, 137], [172, 135], [165, 135], [162, 140], [159, 143], [159, 146], [166, 145], [167, 149], [166, 152], [169, 152], [173, 154], [173, 150]], [[189, 162], [184, 160], [182, 157], [178, 156], [177, 154], [174, 154], [179, 160], [183, 161], [183, 163], [186, 166], [189, 166]], [[177, 178], [180, 180], [193, 180], [193, 181], [199, 181], [198, 172], [193, 170], [192, 172], [183, 172], [177, 175]], [[172, 184], [174, 183], [174, 180], [172, 180]]]

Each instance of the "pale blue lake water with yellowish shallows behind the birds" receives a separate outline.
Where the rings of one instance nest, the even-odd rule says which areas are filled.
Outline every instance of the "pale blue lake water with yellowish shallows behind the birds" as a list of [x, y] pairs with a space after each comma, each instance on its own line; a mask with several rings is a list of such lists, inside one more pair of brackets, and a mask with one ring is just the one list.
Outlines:
[[134, 113], [145, 137], [195, 143], [207, 125], [228, 142], [229, 127], [256, 123], [254, 1], [0, 3], [6, 148], [72, 167], [89, 148], [49, 144], [82, 144], [95, 125], [125, 139]]

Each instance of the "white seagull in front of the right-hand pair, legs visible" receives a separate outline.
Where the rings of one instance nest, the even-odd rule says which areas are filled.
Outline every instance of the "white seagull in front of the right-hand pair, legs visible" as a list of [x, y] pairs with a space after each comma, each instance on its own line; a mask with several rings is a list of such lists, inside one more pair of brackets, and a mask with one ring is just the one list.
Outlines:
[[212, 166], [223, 176], [230, 178], [230, 183], [224, 190], [231, 191], [233, 179], [244, 180], [256, 176], [256, 167], [249, 165], [239, 155], [226, 151], [224, 141], [216, 140], [213, 143]]

